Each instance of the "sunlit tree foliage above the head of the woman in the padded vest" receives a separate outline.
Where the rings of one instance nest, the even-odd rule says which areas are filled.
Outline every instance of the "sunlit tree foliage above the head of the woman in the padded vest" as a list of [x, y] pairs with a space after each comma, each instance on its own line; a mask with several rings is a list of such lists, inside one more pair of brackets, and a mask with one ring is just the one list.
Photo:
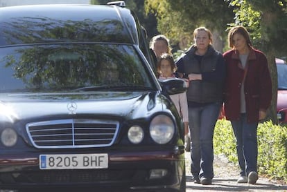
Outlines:
[[223, 39], [226, 39], [227, 23], [234, 18], [233, 8], [224, 0], [146, 0], [146, 12], [153, 12], [157, 17], [157, 29], [178, 44], [186, 38], [193, 41], [193, 30], [206, 26], [214, 36], [214, 47], [223, 51]]

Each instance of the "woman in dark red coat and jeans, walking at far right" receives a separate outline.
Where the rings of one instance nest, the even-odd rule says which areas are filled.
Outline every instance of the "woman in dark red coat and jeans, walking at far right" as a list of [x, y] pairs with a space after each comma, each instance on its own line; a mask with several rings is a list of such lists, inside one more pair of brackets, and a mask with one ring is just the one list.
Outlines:
[[272, 98], [268, 62], [252, 47], [247, 30], [235, 26], [228, 33], [229, 47], [223, 54], [227, 64], [225, 116], [232, 123], [241, 168], [238, 183], [255, 184], [257, 172], [257, 126], [266, 117]]

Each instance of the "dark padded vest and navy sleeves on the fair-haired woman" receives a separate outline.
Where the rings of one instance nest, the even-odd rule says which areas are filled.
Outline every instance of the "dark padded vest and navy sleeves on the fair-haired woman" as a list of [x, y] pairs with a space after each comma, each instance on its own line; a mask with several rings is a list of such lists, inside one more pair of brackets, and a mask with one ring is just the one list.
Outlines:
[[199, 104], [223, 102], [223, 84], [225, 80], [225, 63], [223, 55], [209, 46], [201, 61], [196, 57], [196, 46], [177, 61], [177, 72], [186, 75], [202, 74], [202, 80], [191, 81], [186, 92], [188, 102]]

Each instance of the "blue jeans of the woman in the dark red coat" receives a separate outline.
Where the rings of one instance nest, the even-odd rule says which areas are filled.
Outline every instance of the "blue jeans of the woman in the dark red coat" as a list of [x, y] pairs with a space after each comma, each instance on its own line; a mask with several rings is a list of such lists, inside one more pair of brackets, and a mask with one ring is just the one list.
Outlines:
[[236, 137], [236, 151], [241, 176], [247, 176], [251, 171], [257, 172], [257, 126], [258, 123], [248, 123], [246, 114], [241, 113], [238, 121], [231, 121]]

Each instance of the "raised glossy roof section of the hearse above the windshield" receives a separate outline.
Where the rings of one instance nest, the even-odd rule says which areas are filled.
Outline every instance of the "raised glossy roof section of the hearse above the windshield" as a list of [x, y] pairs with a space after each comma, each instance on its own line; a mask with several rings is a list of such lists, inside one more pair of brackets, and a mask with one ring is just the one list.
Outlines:
[[138, 44], [132, 12], [119, 6], [33, 5], [0, 8], [0, 46], [52, 42]]

